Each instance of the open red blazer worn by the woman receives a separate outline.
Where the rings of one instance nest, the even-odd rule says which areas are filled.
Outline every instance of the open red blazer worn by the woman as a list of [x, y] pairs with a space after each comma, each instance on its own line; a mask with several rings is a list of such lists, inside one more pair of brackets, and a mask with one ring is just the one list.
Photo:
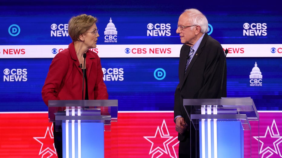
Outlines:
[[[53, 58], [41, 92], [47, 106], [48, 100], [82, 99], [83, 73], [79, 65], [73, 42]], [[86, 52], [86, 74], [89, 100], [108, 99], [100, 58], [90, 50]]]

